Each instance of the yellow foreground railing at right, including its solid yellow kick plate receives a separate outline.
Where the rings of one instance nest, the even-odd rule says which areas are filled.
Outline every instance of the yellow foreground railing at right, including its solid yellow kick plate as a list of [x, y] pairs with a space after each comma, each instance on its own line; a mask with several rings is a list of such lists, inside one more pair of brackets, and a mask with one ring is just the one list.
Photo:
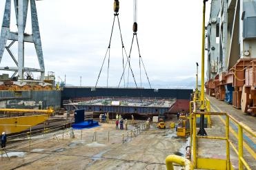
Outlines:
[[[226, 136], [225, 137], [219, 137], [219, 136], [197, 136], [197, 127], [196, 127], [196, 116], [197, 115], [211, 115], [211, 116], [226, 116]], [[248, 134], [250, 134], [253, 138], [256, 137], [255, 132], [244, 125], [243, 123], [240, 123], [238, 120], [233, 118], [233, 116], [230, 116], [230, 114], [227, 113], [219, 113], [219, 112], [199, 112], [199, 113], [193, 113], [191, 115], [191, 122], [192, 122], [192, 133], [190, 136], [191, 141], [193, 141], [193, 166], [194, 168], [198, 169], [211, 169], [213, 167], [210, 167], [214, 164], [215, 168], [216, 166], [219, 166], [219, 169], [233, 169], [230, 164], [230, 146], [233, 148], [235, 153], [237, 153], [238, 160], [239, 160], [239, 170], [244, 169], [250, 169], [248, 162], [244, 159], [244, 151], [243, 151], [243, 131], [246, 131]], [[238, 150], [236, 149], [234, 142], [230, 140], [230, 120], [235, 123], [238, 127]], [[198, 138], [204, 138], [204, 139], [210, 139], [210, 140], [226, 140], [226, 160], [217, 160], [217, 159], [208, 159], [211, 163], [205, 163], [204, 158], [198, 158], [197, 156], [197, 139]], [[237, 143], [237, 142], [236, 142]], [[190, 145], [191, 146], [191, 145]], [[224, 164], [225, 162], [225, 164]]]

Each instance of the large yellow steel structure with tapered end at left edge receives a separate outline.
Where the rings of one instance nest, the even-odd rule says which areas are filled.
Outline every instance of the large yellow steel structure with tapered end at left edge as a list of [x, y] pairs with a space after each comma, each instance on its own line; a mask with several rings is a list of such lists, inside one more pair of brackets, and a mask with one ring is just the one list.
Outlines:
[[[38, 109], [0, 109], [0, 111], [10, 112], [10, 113], [35, 113], [32, 116], [16, 116], [11, 118], [0, 118], [0, 133], [3, 131], [6, 134], [17, 133], [31, 127], [43, 123], [48, 120], [50, 114], [54, 111], [52, 109], [48, 110], [38, 110]], [[38, 114], [41, 113], [41, 114]]]

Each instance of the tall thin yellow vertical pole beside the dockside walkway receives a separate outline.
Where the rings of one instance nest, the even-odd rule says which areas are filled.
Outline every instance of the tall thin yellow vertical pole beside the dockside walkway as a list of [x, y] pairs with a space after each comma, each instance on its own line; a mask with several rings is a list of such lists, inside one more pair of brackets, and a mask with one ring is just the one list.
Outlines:
[[201, 34], [201, 111], [204, 110], [204, 34], [205, 34], [205, 20], [206, 20], [206, 0], [203, 6], [203, 23]]

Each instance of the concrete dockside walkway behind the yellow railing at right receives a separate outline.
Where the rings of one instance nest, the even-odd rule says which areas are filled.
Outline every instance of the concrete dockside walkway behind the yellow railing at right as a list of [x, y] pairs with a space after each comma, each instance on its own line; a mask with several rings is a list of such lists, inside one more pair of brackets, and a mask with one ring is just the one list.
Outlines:
[[[217, 100], [213, 97], [207, 96], [210, 100], [211, 111], [214, 112], [225, 112], [239, 120], [244, 125], [250, 127], [255, 131], [256, 129], [256, 117], [244, 114], [241, 110], [235, 109], [232, 105], [228, 105], [223, 101]], [[219, 136], [225, 137], [226, 133], [226, 120], [224, 116], [211, 116], [212, 128], [206, 128], [208, 136]], [[198, 129], [197, 129], [198, 131]], [[238, 148], [237, 140], [237, 126], [230, 120], [230, 140]], [[248, 162], [251, 169], [256, 169], [256, 139], [250, 136], [244, 131], [244, 159]], [[198, 150], [197, 156], [199, 158], [216, 158], [226, 159], [226, 141], [224, 140], [208, 140], [198, 139], [197, 142]], [[233, 165], [233, 169], [238, 169], [238, 157], [232, 147], [230, 147], [230, 162]]]

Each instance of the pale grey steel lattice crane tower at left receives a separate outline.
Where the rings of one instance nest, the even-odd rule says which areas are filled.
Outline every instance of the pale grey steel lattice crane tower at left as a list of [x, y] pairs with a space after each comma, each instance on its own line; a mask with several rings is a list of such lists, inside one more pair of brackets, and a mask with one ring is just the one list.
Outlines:
[[[15, 16], [17, 21], [18, 32], [10, 31], [10, 16], [11, 16], [11, 0], [6, 0], [6, 6], [3, 14], [3, 23], [1, 27], [1, 36], [0, 36], [0, 63], [3, 57], [3, 52], [6, 49], [10, 54], [12, 60], [14, 61], [16, 67], [0, 67], [0, 70], [14, 72], [12, 78], [18, 74], [18, 81], [22, 81], [24, 78], [24, 72], [40, 72], [40, 81], [44, 79], [44, 62], [43, 62], [43, 50], [41, 46], [41, 38], [39, 32], [39, 23], [37, 17], [37, 7], [35, 0], [13, 0]], [[26, 21], [28, 17], [28, 5], [30, 5], [31, 10], [31, 25], [32, 25], [32, 34], [26, 34]], [[8, 40], [10, 44], [8, 45]], [[18, 42], [18, 58], [10, 51], [10, 47]], [[37, 59], [39, 62], [39, 69], [24, 67], [24, 43], [34, 43], [35, 50], [37, 52]]]

